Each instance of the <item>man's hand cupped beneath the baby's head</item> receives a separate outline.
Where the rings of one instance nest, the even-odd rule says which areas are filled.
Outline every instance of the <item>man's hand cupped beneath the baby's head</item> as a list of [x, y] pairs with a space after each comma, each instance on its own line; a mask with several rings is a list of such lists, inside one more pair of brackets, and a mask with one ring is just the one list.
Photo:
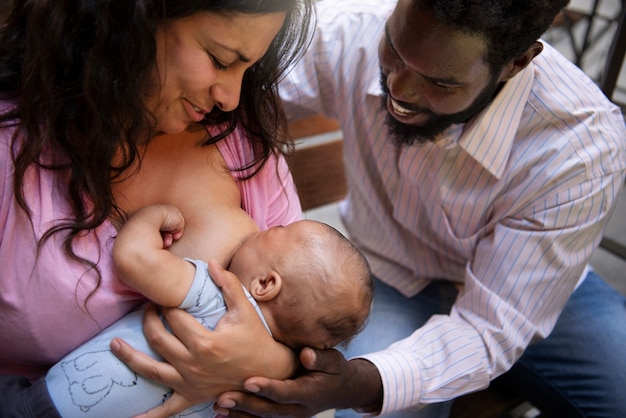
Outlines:
[[228, 417], [311, 417], [331, 408], [380, 411], [382, 383], [372, 363], [311, 348], [302, 350], [300, 361], [305, 374], [289, 380], [250, 378], [244, 384], [247, 393], [224, 393], [214, 409]]

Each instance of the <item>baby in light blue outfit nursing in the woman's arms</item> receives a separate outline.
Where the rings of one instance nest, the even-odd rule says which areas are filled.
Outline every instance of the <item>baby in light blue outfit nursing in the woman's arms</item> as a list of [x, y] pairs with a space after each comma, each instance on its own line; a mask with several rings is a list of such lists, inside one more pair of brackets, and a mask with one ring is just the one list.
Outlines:
[[[259, 231], [245, 212], [232, 209], [223, 211], [221, 219], [211, 235], [241, 242], [229, 270], [277, 341], [296, 351], [330, 348], [346, 344], [360, 331], [373, 296], [371, 272], [341, 233], [310, 220]], [[185, 309], [214, 329], [226, 306], [207, 264], [169, 250], [183, 229], [177, 208], [142, 208], [121, 228], [113, 259], [122, 280], [148, 299]], [[167, 399], [169, 388], [135, 374], [109, 350], [111, 339], [121, 337], [160, 358], [143, 335], [142, 318], [143, 310], [132, 312], [49, 370], [46, 384], [61, 416], [130, 417]], [[214, 416], [212, 403], [178, 416]]]

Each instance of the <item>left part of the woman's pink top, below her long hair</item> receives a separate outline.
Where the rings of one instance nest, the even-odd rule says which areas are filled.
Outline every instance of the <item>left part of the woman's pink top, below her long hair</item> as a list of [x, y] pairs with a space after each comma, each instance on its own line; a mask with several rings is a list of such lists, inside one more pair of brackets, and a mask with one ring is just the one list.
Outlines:
[[37, 249], [45, 231], [71, 210], [65, 195], [55, 192], [57, 177], [36, 165], [24, 176], [32, 216], [17, 205], [12, 134], [13, 128], [0, 129], [0, 375], [36, 379], [145, 298], [115, 273], [110, 253], [117, 232], [108, 221], [73, 242], [78, 256], [97, 262], [100, 277], [66, 256], [63, 234]]

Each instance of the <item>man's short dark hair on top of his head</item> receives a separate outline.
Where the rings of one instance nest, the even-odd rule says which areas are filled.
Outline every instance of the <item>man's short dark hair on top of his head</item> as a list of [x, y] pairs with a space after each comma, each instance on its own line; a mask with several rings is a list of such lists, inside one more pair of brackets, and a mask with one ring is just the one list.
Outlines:
[[437, 20], [487, 41], [485, 62], [498, 72], [543, 35], [569, 0], [412, 0]]

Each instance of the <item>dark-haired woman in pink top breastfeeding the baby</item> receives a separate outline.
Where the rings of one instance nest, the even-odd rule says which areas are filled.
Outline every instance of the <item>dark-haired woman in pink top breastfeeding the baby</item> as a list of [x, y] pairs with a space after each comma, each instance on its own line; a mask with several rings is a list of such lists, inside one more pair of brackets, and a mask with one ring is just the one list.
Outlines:
[[[40, 0], [3, 7], [4, 416], [32, 413], [19, 409], [24, 400], [43, 411], [37, 379], [46, 368], [143, 301], [110, 260], [115, 228], [134, 209], [183, 202], [199, 228], [202, 205], [214, 199], [243, 206], [261, 228], [300, 216], [280, 157], [286, 123], [276, 81], [306, 42], [311, 4]], [[188, 250], [192, 257], [200, 251]], [[264, 341], [268, 354], [285, 357]]]

